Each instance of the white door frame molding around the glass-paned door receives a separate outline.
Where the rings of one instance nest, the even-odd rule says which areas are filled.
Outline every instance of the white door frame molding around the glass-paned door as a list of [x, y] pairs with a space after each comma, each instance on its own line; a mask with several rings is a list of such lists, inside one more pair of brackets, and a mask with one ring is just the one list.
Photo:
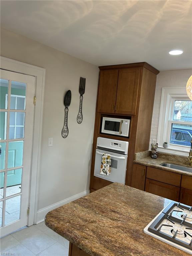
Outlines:
[[[45, 90], [45, 68], [33, 66], [17, 60], [12, 60], [0, 56], [1, 68], [30, 75], [35, 77], [35, 92], [36, 104], [34, 115], [33, 129], [33, 146], [32, 146], [32, 161], [30, 175], [30, 192], [29, 204], [30, 211], [28, 217], [28, 226], [37, 222], [37, 203], [39, 190], [39, 173], [40, 173], [40, 158], [41, 158], [41, 139], [42, 139], [42, 123], [43, 123], [43, 102]], [[34, 146], [35, 145], [35, 146]]]

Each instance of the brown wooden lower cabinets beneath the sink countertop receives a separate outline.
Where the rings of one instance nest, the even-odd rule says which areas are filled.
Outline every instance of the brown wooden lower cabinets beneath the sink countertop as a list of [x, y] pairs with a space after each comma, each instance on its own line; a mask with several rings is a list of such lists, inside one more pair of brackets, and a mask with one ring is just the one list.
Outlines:
[[131, 186], [192, 206], [192, 176], [133, 163]]

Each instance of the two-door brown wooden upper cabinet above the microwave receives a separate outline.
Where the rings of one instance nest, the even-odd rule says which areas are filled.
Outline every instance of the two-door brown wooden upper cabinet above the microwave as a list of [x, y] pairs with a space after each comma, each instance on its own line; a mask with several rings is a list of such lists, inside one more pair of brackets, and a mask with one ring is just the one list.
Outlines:
[[135, 115], [139, 74], [140, 67], [101, 70], [97, 112]]

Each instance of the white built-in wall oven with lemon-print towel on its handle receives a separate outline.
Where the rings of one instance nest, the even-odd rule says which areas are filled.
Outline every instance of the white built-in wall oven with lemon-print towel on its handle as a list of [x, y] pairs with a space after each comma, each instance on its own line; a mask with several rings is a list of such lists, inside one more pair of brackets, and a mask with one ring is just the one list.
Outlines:
[[[98, 137], [95, 152], [94, 176], [125, 184], [127, 154], [129, 142]], [[111, 173], [107, 176], [100, 173], [102, 154], [111, 156]]]

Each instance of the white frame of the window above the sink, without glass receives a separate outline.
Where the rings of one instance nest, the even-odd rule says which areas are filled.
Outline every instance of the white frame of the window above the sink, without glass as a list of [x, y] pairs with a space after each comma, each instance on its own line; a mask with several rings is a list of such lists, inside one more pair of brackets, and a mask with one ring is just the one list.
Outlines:
[[[171, 87], [171, 88], [162, 88], [161, 94], [161, 105], [160, 105], [160, 115], [159, 115], [159, 125], [158, 125], [158, 135], [157, 143], [161, 151], [167, 153], [174, 153], [188, 156], [190, 150], [189, 146], [177, 145], [170, 143], [171, 137], [171, 126], [172, 124], [188, 124], [192, 125], [192, 122], [185, 121], [174, 121], [174, 103], [175, 100], [190, 100], [187, 96], [186, 89], [181, 87]], [[154, 103], [155, 104], [155, 103]], [[163, 147], [163, 143], [168, 143], [168, 148]]]

